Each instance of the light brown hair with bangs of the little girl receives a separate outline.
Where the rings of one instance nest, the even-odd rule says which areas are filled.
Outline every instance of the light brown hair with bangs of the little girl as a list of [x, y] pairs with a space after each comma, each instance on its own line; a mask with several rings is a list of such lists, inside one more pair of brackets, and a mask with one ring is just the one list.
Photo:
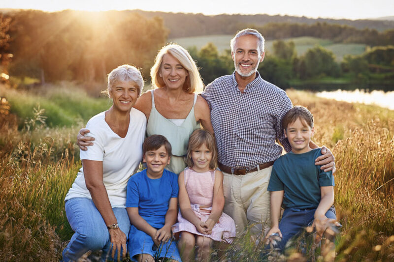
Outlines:
[[218, 167], [218, 151], [216, 149], [215, 137], [211, 132], [204, 129], [196, 129], [190, 136], [186, 164], [190, 168], [194, 166], [192, 151], [203, 144], [205, 144], [205, 146], [212, 152], [212, 159], [209, 162], [209, 169], [215, 170]]

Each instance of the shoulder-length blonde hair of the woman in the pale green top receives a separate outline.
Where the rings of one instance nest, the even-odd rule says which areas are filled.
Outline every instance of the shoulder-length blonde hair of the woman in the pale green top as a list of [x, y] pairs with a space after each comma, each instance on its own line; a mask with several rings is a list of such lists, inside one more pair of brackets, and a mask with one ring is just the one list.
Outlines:
[[152, 86], [154, 88], [164, 87], [163, 78], [160, 77], [159, 71], [162, 67], [163, 56], [169, 54], [178, 59], [181, 65], [189, 72], [183, 84], [183, 90], [187, 93], [200, 93], [204, 87], [200, 73], [198, 72], [196, 62], [190, 56], [189, 52], [177, 44], [169, 44], [162, 47], [155, 58], [155, 64], [151, 68]]

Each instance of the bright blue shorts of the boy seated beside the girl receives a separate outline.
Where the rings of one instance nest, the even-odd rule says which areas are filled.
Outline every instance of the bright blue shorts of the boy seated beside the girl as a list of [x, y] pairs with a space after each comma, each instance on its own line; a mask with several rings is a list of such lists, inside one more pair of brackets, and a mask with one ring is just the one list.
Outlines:
[[156, 247], [152, 237], [132, 225], [130, 227], [127, 249], [132, 261], [137, 261], [135, 256], [140, 254], [148, 254], [154, 258], [170, 258], [182, 261], [175, 240], [169, 240], [167, 243], [162, 242], [159, 247]]

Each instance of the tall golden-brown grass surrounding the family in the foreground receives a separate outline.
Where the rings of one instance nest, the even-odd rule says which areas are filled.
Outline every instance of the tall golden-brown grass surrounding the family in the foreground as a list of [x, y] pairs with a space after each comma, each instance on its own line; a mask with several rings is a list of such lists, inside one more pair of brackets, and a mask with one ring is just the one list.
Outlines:
[[[69, 99], [75, 99], [76, 111], [84, 110], [84, 99], [64, 95], [72, 88], [52, 86], [51, 97], [63, 94], [65, 101], [57, 103], [62, 110], [66, 111]], [[45, 103], [40, 104], [45, 110], [41, 113], [19, 115], [13, 108], [23, 108], [26, 100], [7, 104], [9, 93], [0, 91], [1, 96], [6, 94], [0, 100], [0, 261], [59, 261], [72, 234], [64, 198], [80, 168], [74, 141], [86, 119], [76, 125], [49, 127], [46, 119], [58, 115]], [[37, 88], [32, 99], [46, 101], [46, 91], [46, 87]], [[27, 91], [12, 92], [30, 97]], [[287, 93], [295, 105], [307, 106], [314, 114], [313, 139], [331, 148], [336, 158], [335, 207], [343, 225], [336, 239], [336, 261], [393, 261], [394, 111], [328, 100], [304, 91]], [[88, 99], [83, 91], [78, 94]], [[8, 106], [15, 114], [7, 114]], [[92, 116], [100, 110], [91, 112]], [[18, 129], [18, 123], [24, 127]], [[237, 248], [230, 247], [225, 256], [231, 261], [261, 261], [262, 247], [255, 243], [248, 237], [239, 239]], [[306, 259], [298, 250], [288, 257], [288, 261]], [[320, 256], [309, 259], [323, 261]]]

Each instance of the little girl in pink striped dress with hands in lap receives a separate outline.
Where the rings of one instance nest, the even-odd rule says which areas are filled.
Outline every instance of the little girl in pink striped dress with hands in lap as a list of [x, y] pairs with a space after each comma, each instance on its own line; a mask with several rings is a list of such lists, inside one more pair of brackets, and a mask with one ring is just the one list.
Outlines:
[[178, 249], [183, 262], [208, 261], [215, 241], [232, 242], [235, 224], [230, 216], [222, 213], [224, 205], [223, 174], [216, 170], [217, 152], [213, 135], [197, 129], [189, 138], [186, 168], [179, 174], [178, 223], [173, 233], [180, 232]]

